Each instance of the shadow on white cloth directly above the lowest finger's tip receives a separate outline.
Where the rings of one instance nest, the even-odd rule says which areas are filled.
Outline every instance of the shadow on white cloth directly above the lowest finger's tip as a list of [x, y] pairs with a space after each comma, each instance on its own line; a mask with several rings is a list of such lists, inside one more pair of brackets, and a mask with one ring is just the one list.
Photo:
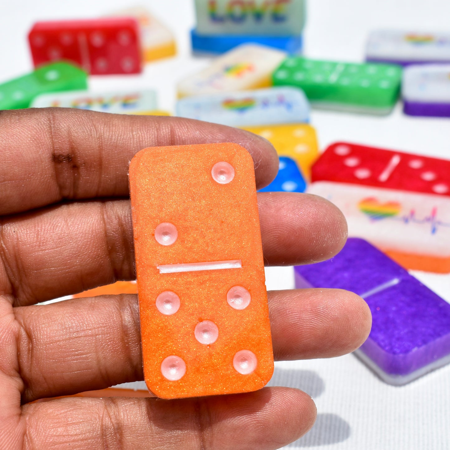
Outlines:
[[295, 387], [311, 397], [318, 397], [325, 390], [322, 378], [312, 370], [280, 369], [275, 367], [274, 375], [267, 386]]

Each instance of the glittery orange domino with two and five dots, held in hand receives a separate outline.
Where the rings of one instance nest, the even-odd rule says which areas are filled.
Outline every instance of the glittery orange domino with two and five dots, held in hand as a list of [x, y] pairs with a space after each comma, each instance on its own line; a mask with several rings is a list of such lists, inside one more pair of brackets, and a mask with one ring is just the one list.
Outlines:
[[130, 163], [144, 378], [162, 398], [250, 392], [273, 369], [253, 160], [237, 144]]

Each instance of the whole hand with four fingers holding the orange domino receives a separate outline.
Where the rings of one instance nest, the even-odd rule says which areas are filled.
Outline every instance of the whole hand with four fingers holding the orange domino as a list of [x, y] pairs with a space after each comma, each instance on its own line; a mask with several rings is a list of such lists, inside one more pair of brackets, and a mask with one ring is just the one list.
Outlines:
[[[278, 158], [243, 130], [170, 117], [70, 109], [0, 113], [0, 447], [2, 449], [275, 449], [315, 420], [311, 398], [267, 387], [246, 394], [163, 401], [63, 396], [143, 379], [136, 295], [52, 298], [135, 279], [127, 171], [140, 149], [237, 142], [257, 186]], [[347, 237], [323, 198], [259, 193], [265, 261], [322, 261]], [[355, 294], [269, 293], [275, 358], [339, 356], [370, 329]]]

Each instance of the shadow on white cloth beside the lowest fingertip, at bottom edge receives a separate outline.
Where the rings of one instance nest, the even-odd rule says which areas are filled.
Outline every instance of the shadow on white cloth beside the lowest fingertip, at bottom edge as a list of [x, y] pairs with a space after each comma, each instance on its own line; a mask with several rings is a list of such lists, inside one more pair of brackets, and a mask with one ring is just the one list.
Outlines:
[[314, 427], [287, 448], [305, 448], [337, 444], [350, 437], [350, 425], [336, 414], [317, 414]]

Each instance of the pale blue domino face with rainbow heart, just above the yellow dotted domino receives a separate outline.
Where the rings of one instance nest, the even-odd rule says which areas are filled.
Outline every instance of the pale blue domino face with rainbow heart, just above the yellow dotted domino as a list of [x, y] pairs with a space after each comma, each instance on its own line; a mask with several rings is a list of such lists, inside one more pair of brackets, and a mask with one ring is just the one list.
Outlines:
[[229, 126], [309, 121], [309, 103], [297, 88], [269, 88], [185, 97], [176, 115]]

